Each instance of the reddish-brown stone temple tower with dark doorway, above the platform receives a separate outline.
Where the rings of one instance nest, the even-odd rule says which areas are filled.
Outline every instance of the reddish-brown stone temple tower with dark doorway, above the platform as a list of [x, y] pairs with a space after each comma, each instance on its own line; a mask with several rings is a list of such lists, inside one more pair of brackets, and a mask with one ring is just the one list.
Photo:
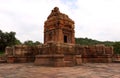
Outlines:
[[44, 23], [44, 43], [75, 43], [74, 21], [55, 7]]

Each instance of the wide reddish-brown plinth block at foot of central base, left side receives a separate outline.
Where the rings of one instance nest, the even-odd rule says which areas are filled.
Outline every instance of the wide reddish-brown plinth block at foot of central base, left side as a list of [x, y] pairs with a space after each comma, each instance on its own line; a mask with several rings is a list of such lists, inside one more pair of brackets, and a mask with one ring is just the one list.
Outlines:
[[35, 65], [64, 66], [63, 55], [37, 55]]

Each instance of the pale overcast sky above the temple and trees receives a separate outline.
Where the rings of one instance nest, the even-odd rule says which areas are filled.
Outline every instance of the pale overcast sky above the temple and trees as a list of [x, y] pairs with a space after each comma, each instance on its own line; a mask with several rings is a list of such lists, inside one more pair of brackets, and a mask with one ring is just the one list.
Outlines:
[[44, 21], [55, 6], [75, 21], [75, 37], [120, 41], [120, 0], [0, 0], [0, 29], [22, 42], [43, 42]]

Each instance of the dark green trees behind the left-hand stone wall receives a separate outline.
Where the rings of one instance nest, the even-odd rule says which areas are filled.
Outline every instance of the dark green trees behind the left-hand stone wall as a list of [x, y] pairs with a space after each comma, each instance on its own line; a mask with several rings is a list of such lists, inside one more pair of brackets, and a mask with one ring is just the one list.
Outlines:
[[2, 30], [0, 30], [0, 52], [4, 52], [6, 46], [13, 46], [19, 44], [33, 46], [41, 44], [39, 41], [33, 42], [32, 40], [27, 40], [24, 43], [21, 43], [21, 41], [18, 40], [15, 35], [15, 32], [3, 32]]

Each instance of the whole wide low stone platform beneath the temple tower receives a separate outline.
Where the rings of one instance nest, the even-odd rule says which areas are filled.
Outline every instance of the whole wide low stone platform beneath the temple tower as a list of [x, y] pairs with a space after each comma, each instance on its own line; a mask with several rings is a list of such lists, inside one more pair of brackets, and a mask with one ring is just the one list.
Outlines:
[[[18, 45], [6, 48], [8, 62], [35, 62], [35, 65], [75, 66], [81, 63], [112, 62], [113, 48], [104, 45], [81, 46], [48, 43], [39, 46]], [[11, 61], [13, 60], [13, 61]]]

